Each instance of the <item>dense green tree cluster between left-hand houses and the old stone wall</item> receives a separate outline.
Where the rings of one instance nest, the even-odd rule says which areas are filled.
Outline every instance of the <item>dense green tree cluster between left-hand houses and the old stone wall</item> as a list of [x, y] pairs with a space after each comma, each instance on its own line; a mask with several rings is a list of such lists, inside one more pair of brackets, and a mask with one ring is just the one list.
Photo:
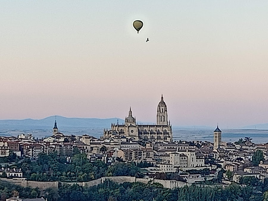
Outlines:
[[108, 167], [102, 161], [91, 163], [86, 154], [74, 154], [71, 162], [56, 154], [40, 154], [37, 161], [28, 158], [23, 163], [15, 164], [21, 168], [24, 177], [34, 181], [91, 181], [103, 176], [142, 177], [140, 168], [135, 163], [116, 163]]

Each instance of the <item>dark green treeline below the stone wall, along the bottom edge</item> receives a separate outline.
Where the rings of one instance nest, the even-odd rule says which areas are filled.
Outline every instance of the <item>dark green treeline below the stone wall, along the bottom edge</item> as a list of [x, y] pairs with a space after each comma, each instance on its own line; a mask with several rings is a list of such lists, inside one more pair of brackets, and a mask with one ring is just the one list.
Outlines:
[[191, 185], [168, 189], [158, 183], [117, 184], [106, 180], [98, 186], [63, 185], [45, 191], [0, 182], [1, 200], [17, 194], [20, 197], [44, 197], [48, 201], [267, 201], [267, 190], [267, 181], [247, 183], [243, 187], [233, 183], [224, 187]]

